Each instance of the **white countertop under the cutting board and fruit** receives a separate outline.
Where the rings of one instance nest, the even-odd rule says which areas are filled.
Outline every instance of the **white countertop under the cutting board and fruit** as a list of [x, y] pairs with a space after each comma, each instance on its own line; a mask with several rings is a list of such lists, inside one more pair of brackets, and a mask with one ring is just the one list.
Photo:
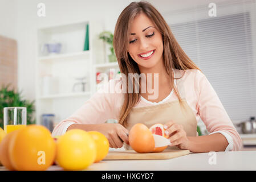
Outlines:
[[[256, 151], [216, 152], [216, 164], [209, 164], [213, 155], [190, 153], [173, 159], [161, 160], [102, 160], [87, 170], [96, 171], [176, 171], [176, 170], [256, 170]], [[5, 167], [0, 167], [5, 170]], [[51, 166], [48, 170], [62, 170]]]

